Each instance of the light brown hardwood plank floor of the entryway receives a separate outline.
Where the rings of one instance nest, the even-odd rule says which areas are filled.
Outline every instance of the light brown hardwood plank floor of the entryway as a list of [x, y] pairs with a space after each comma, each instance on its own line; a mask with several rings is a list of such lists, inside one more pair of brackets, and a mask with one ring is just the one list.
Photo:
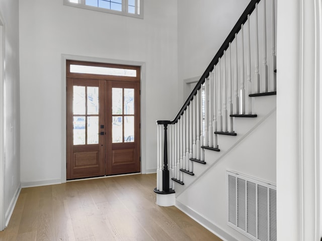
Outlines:
[[155, 184], [155, 174], [138, 174], [23, 188], [0, 240], [221, 240], [157, 206]]

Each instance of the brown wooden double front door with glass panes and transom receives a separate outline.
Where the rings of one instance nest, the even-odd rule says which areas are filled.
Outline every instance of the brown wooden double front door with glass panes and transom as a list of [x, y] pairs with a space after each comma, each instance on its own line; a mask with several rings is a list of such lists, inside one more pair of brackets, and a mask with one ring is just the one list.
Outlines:
[[[75, 65], [136, 75], [93, 74]], [[66, 72], [67, 180], [140, 172], [139, 68], [67, 61]]]

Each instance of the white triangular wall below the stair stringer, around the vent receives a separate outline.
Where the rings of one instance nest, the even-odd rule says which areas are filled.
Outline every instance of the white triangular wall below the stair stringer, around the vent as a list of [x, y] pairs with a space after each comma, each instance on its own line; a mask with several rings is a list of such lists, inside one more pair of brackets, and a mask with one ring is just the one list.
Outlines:
[[226, 224], [225, 172], [276, 183], [276, 107], [223, 155], [216, 154], [206, 152], [207, 164], [215, 161], [176, 195], [176, 206], [223, 240], [251, 240]]

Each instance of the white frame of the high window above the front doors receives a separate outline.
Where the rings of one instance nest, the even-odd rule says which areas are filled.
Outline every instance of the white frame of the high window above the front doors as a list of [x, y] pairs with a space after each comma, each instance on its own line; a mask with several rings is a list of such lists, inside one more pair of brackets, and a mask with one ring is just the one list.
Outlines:
[[63, 0], [63, 4], [66, 6], [94, 10], [109, 14], [123, 15], [127, 17], [143, 19], [143, 0], [135, 0], [135, 14], [128, 13], [128, 0], [122, 0], [122, 11], [115, 11], [111, 9], [98, 8], [93, 6], [88, 6], [85, 4], [86, 0], [77, 0], [78, 3], [71, 3], [70, 0]]

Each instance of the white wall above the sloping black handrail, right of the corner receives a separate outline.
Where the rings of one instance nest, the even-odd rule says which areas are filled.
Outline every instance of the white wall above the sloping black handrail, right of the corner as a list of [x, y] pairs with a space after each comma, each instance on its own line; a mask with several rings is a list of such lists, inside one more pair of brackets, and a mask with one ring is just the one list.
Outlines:
[[250, 0], [178, 0], [179, 104], [184, 79], [201, 76]]

